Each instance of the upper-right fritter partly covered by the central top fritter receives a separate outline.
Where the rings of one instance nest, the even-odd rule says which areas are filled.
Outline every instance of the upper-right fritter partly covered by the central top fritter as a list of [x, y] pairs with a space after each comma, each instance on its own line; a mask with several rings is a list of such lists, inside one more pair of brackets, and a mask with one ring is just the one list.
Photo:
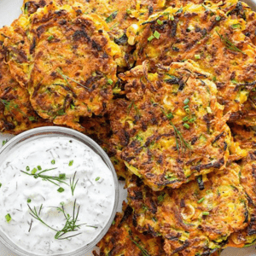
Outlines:
[[[244, 21], [244, 20], [243, 20]], [[183, 9], [166, 9], [152, 15], [137, 29], [137, 63], [149, 61], [154, 71], [159, 64], [194, 60], [212, 74], [218, 87], [218, 102], [225, 113], [236, 112], [255, 86], [255, 46], [237, 23], [221, 10], [188, 4]], [[134, 32], [128, 29], [128, 38]]]

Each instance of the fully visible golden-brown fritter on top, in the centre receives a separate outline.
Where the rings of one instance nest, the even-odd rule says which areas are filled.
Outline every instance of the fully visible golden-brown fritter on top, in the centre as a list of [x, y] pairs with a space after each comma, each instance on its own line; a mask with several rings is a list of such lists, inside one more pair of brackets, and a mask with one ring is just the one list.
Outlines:
[[148, 73], [144, 63], [119, 75], [129, 101], [116, 100], [110, 113], [113, 145], [154, 190], [224, 168], [233, 150], [209, 74], [189, 61], [162, 68]]

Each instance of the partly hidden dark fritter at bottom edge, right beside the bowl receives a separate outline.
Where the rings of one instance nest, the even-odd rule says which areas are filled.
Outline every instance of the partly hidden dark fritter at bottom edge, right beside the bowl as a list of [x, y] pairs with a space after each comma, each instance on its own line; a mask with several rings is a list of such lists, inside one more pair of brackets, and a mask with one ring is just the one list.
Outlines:
[[97, 244], [100, 253], [95, 256], [165, 256], [163, 241], [139, 233], [133, 226], [132, 209], [123, 203], [123, 212], [117, 213], [106, 236]]

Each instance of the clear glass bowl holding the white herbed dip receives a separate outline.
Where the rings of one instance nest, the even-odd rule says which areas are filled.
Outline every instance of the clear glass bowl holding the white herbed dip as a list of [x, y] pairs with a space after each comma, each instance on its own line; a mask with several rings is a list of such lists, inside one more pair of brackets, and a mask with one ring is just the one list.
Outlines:
[[[115, 213], [117, 212], [118, 201], [119, 201], [119, 183], [118, 178], [116, 176], [116, 172], [113, 168], [111, 161], [108, 158], [108, 155], [103, 151], [103, 149], [95, 143], [90, 137], [85, 136], [79, 131], [74, 131], [72, 129], [58, 127], [58, 126], [45, 126], [36, 129], [32, 129], [30, 131], [25, 131], [20, 135], [12, 138], [8, 143], [6, 143], [3, 148], [0, 149], [0, 163], [3, 162], [7, 158], [10, 152], [15, 151], [17, 146], [20, 146], [23, 143], [32, 142], [33, 140], [37, 140], [38, 138], [43, 137], [68, 137], [71, 139], [76, 139], [81, 143], [84, 143], [86, 146], [90, 147], [96, 154], [100, 155], [104, 163], [108, 166], [109, 170], [113, 174], [113, 182], [114, 182], [114, 204], [113, 211], [111, 217], [108, 220], [106, 226], [102, 229], [101, 233], [96, 236], [96, 238], [91, 241], [89, 244], [84, 245], [84, 247], [80, 247], [79, 249], [74, 249], [73, 252], [70, 253], [55, 253], [51, 254], [51, 256], [79, 256], [84, 255], [85, 253], [90, 253], [91, 250], [96, 246], [96, 244], [102, 239], [103, 236], [106, 235], [109, 227], [113, 222], [113, 218]], [[15, 245], [13, 241], [9, 239], [1, 230], [0, 230], [0, 241], [9, 248], [12, 253], [19, 256], [43, 256], [47, 254], [35, 254], [26, 252], [26, 250]]]

